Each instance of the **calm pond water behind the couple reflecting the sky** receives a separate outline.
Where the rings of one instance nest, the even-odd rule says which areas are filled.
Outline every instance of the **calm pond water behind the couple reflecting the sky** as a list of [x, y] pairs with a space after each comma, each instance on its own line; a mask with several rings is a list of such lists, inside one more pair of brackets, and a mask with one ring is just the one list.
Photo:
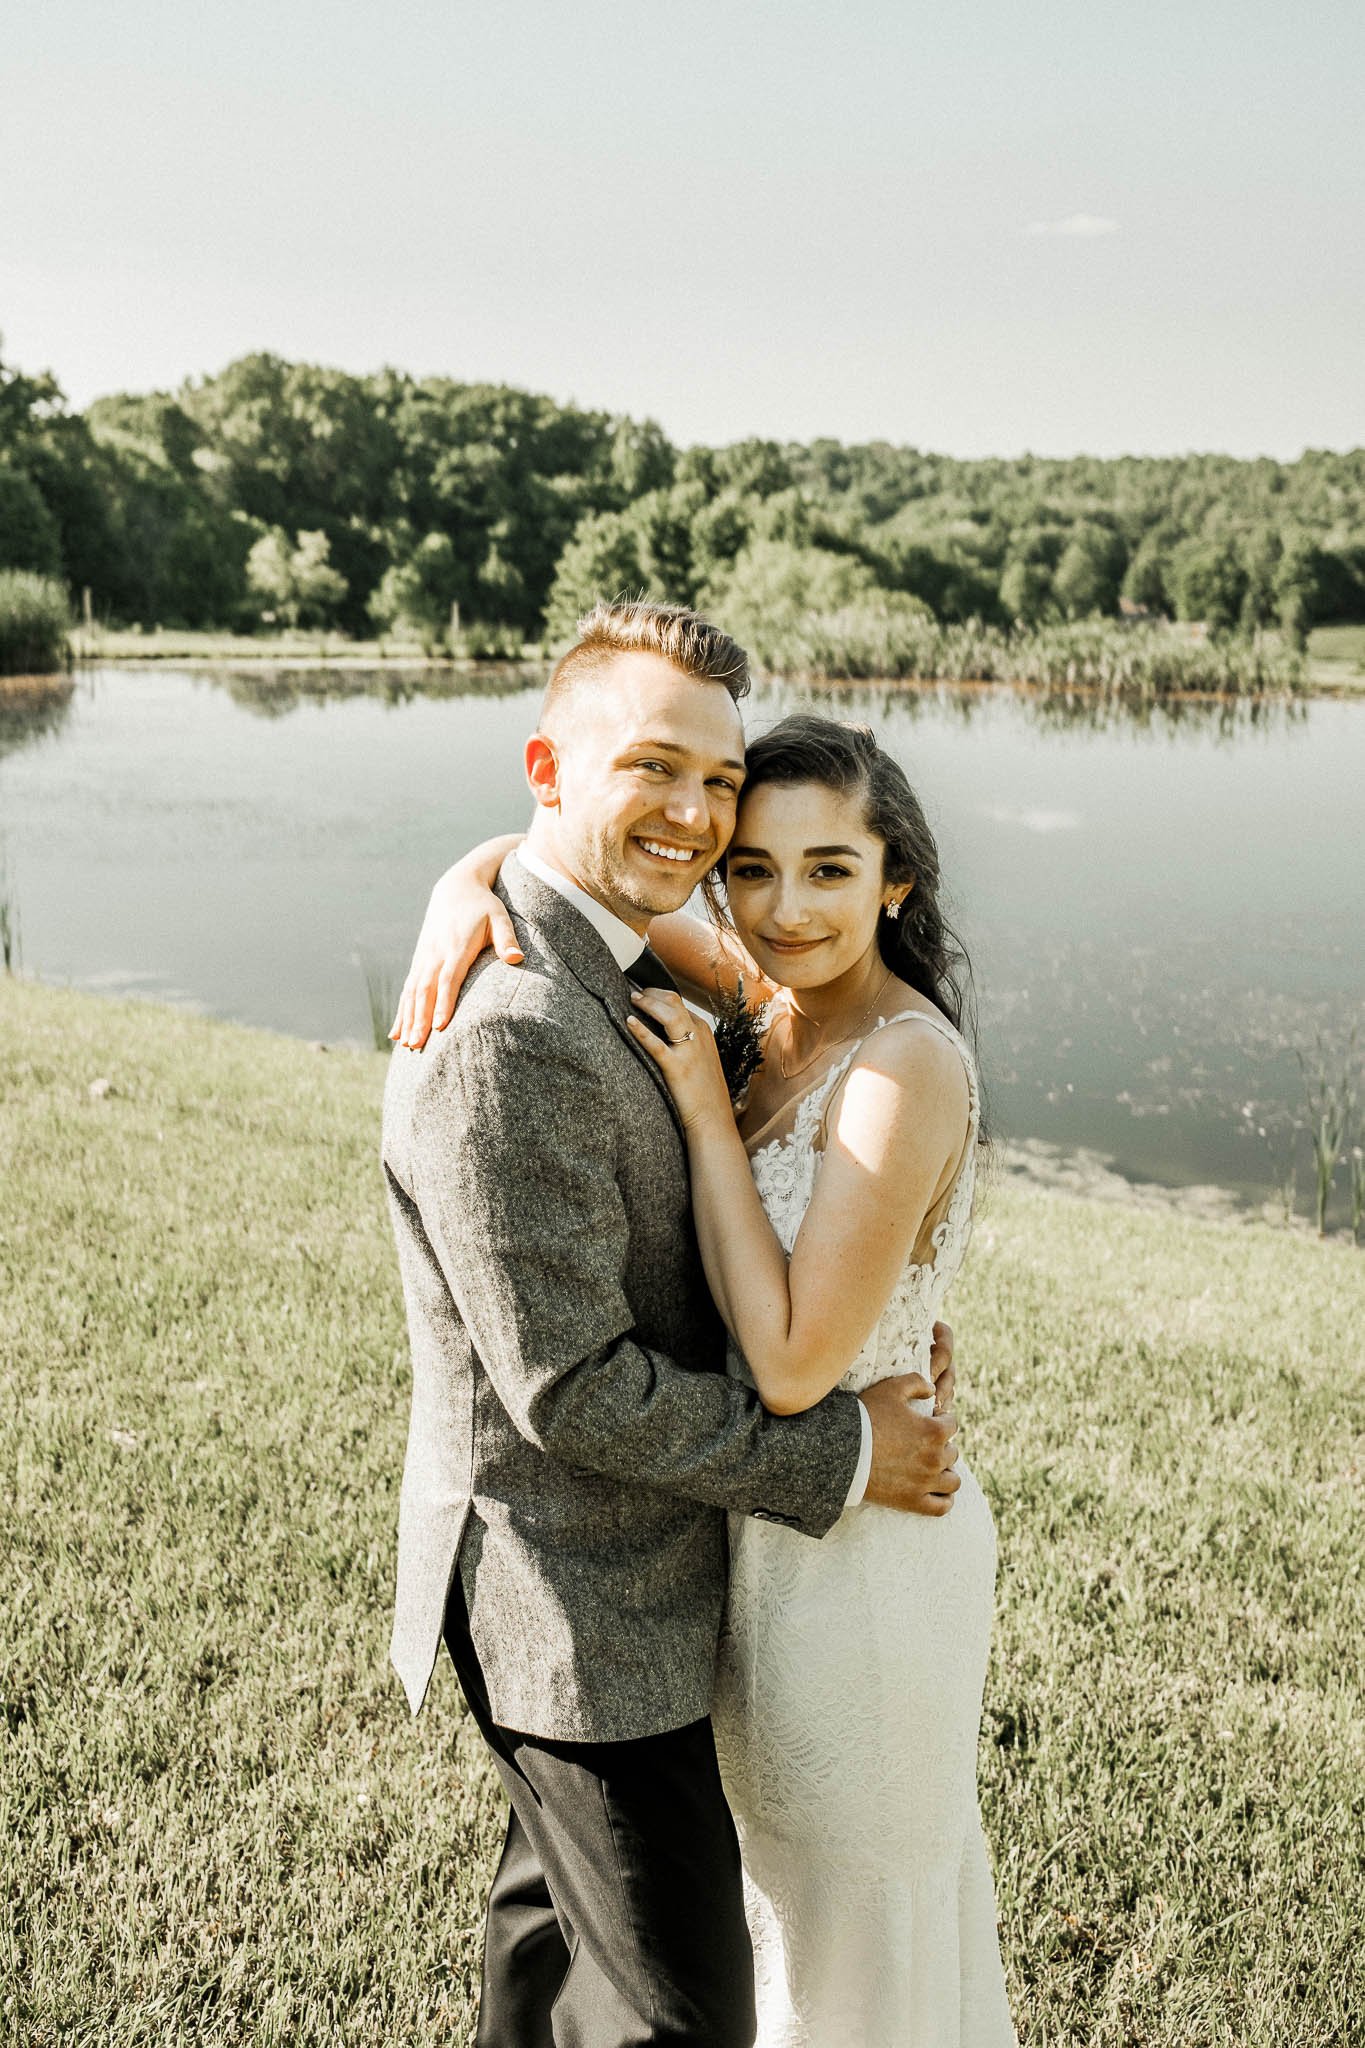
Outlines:
[[[368, 1042], [438, 870], [526, 819], [538, 684], [121, 666], [0, 700], [25, 967]], [[1365, 702], [769, 686], [749, 725], [794, 702], [876, 725], [925, 801], [1005, 1141], [1306, 1192], [1297, 1055], [1340, 1073], [1365, 1008]]]

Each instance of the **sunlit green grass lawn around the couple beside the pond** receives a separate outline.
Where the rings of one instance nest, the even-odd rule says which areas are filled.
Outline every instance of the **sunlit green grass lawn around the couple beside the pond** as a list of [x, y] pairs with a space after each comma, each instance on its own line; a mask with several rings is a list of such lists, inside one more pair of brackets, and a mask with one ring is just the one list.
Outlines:
[[[469, 2040], [499, 1794], [385, 1663], [383, 1071], [0, 981], [6, 2042]], [[1023, 2040], [1359, 2042], [1365, 1257], [1001, 1186], [954, 1321]]]

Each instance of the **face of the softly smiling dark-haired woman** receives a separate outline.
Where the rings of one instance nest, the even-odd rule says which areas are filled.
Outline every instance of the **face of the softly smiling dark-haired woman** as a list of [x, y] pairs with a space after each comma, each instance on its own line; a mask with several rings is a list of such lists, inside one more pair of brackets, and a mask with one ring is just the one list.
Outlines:
[[817, 989], [866, 961], [882, 905], [884, 848], [860, 795], [765, 782], [741, 797], [724, 893], [741, 940], [774, 981]]

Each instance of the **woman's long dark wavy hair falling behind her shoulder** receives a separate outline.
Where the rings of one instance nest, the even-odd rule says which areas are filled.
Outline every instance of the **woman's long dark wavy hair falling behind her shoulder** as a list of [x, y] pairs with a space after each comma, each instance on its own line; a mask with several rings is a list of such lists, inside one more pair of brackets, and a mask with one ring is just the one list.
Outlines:
[[[937, 842], [905, 768], [866, 725], [792, 713], [745, 748], [741, 803], [765, 782], [817, 782], [841, 797], [862, 797], [864, 825], [884, 846], [882, 881], [913, 885], [898, 918], [882, 911], [878, 952], [892, 975], [927, 995], [976, 1053], [972, 963], [943, 915]], [[724, 860], [704, 887], [712, 915], [729, 924], [722, 881]]]

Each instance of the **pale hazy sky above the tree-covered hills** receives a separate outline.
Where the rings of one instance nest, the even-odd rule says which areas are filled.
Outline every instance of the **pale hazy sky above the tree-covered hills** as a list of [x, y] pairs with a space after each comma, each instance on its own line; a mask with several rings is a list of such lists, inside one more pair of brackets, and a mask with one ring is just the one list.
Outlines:
[[4, 360], [950, 455], [1365, 442], [1365, 6], [10, 0]]

